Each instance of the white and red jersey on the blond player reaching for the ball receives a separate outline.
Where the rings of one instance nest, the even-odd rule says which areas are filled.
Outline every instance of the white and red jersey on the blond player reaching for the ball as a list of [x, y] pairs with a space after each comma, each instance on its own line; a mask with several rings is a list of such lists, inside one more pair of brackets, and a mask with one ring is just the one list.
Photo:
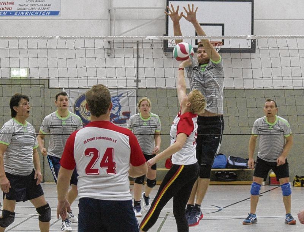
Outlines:
[[187, 135], [185, 144], [181, 150], [172, 155], [172, 163], [178, 165], [189, 165], [197, 162], [196, 159], [196, 137], [197, 137], [197, 115], [191, 112], [186, 112], [175, 117], [171, 130], [171, 145], [175, 143], [176, 136], [179, 133], [184, 133]]

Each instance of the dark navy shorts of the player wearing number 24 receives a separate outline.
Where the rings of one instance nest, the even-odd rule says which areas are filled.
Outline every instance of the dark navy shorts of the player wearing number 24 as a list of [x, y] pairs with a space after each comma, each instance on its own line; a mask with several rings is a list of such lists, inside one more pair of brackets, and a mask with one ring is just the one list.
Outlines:
[[78, 203], [78, 232], [139, 232], [132, 200], [97, 200], [83, 197]]

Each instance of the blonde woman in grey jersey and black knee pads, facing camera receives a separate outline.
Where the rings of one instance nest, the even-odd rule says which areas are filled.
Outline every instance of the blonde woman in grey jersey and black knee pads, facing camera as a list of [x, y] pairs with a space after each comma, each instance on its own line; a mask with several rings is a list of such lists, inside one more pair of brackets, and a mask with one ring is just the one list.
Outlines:
[[[139, 113], [131, 116], [128, 128], [133, 131], [143, 155], [146, 160], [152, 159], [159, 152], [161, 147], [161, 121], [156, 114], [150, 112], [151, 102], [147, 97], [143, 97], [138, 103]], [[143, 198], [143, 208], [149, 210], [149, 196], [156, 185], [156, 164], [148, 170], [145, 191], [141, 193], [141, 187], [145, 176], [136, 177], [134, 183], [134, 212], [136, 217], [141, 217], [140, 197]]]

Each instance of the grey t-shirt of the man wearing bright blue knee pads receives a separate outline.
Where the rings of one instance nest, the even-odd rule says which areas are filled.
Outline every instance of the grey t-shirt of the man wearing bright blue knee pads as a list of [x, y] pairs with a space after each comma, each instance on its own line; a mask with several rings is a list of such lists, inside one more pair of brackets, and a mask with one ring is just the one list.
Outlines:
[[253, 135], [260, 136], [257, 156], [268, 162], [275, 162], [282, 155], [285, 137], [291, 135], [287, 120], [276, 116], [274, 123], [269, 123], [266, 116], [255, 120], [252, 128]]

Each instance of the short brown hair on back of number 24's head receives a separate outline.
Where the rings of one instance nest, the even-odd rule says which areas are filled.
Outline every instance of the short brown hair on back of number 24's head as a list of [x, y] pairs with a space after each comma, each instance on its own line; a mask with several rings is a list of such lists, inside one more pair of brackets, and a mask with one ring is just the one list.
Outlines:
[[102, 85], [94, 85], [85, 93], [85, 99], [91, 115], [99, 117], [108, 112], [111, 104], [111, 94], [109, 89]]

